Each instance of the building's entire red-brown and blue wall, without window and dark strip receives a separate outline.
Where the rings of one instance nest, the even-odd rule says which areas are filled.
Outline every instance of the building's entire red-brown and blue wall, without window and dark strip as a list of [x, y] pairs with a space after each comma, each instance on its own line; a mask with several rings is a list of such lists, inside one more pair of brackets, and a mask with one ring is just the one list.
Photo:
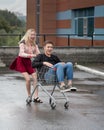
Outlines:
[[[75, 34], [73, 9], [94, 7], [95, 46], [104, 46], [104, 0], [40, 0], [40, 34]], [[36, 28], [36, 0], [27, 0], [27, 28]], [[98, 35], [101, 34], [101, 35]], [[67, 46], [67, 36], [47, 36], [56, 46]], [[70, 36], [71, 46], [91, 46], [91, 38]], [[42, 45], [43, 37], [39, 38]]]

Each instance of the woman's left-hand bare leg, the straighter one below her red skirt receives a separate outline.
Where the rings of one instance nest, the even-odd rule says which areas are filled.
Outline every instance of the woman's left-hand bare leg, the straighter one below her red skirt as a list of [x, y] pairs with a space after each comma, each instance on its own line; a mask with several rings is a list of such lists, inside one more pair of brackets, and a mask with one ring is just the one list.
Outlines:
[[26, 89], [28, 96], [31, 95], [31, 84], [30, 84], [30, 75], [27, 72], [22, 73], [23, 77], [26, 80]]

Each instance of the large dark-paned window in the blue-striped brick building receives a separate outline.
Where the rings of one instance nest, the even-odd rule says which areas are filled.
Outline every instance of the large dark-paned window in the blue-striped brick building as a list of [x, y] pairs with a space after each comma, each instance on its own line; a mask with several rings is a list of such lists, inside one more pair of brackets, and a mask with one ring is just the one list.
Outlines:
[[75, 34], [91, 36], [94, 32], [94, 7], [74, 10]]

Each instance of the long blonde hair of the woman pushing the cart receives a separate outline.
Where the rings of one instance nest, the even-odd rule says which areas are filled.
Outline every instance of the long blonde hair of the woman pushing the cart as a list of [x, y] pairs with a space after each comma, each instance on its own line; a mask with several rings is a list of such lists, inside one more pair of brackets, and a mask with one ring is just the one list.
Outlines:
[[[24, 41], [25, 42], [25, 44], [28, 44], [28, 42], [29, 42], [29, 35], [30, 35], [30, 33], [31, 32], [35, 32], [35, 29], [28, 29], [27, 31], [26, 31], [26, 33], [25, 33], [25, 35], [22, 37], [22, 39], [19, 41], [19, 44], [22, 42], [22, 41]], [[35, 45], [36, 44], [36, 39], [33, 41], [33, 44]]]

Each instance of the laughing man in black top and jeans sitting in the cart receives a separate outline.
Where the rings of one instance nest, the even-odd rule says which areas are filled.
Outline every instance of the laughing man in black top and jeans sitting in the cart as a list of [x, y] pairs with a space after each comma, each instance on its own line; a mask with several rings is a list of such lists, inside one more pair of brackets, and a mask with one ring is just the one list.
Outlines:
[[[48, 66], [53, 72], [56, 70], [56, 77], [60, 84], [61, 92], [70, 91], [72, 87], [73, 79], [73, 64], [71, 62], [61, 62], [61, 60], [53, 55], [53, 42], [44, 42], [44, 53], [39, 54], [32, 62], [33, 68], [41, 68], [42, 66]], [[67, 85], [64, 82], [64, 78], [67, 78]], [[47, 76], [48, 78], [48, 76]]]

